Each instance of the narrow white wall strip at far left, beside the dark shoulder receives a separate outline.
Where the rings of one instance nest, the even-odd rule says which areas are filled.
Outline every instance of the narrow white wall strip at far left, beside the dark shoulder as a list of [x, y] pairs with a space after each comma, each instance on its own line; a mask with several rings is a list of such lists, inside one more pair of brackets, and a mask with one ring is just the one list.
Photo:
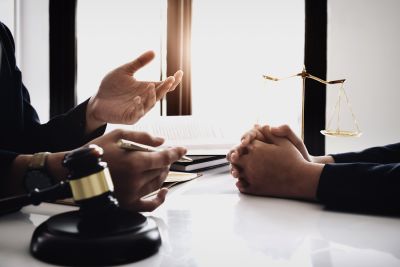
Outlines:
[[49, 0], [0, 0], [0, 20], [13, 33], [17, 64], [42, 122], [49, 119]]

